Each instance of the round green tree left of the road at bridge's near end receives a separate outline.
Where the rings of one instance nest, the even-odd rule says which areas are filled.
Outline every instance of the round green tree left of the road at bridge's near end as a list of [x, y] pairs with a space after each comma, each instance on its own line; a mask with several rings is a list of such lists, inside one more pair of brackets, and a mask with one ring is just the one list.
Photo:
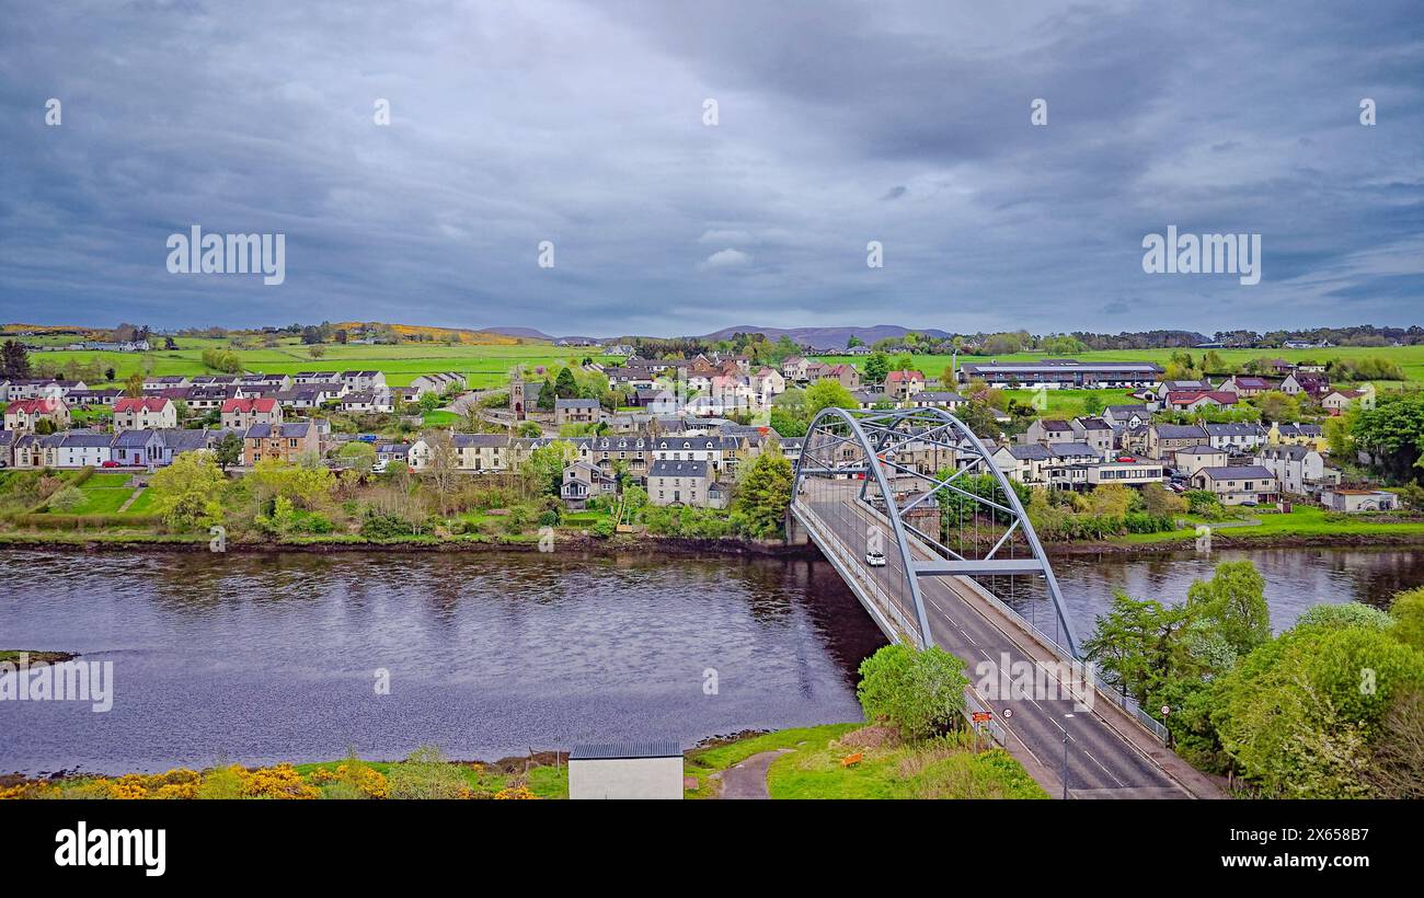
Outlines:
[[866, 720], [883, 722], [901, 739], [918, 740], [958, 720], [968, 683], [964, 662], [944, 649], [894, 643], [860, 662], [856, 697]]

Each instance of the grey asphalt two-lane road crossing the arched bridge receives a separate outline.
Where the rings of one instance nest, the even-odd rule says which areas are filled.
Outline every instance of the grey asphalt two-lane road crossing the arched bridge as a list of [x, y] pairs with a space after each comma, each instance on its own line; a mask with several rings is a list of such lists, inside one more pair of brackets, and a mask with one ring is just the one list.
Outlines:
[[[874, 574], [887, 593], [893, 595], [904, 578], [900, 552], [894, 548], [897, 545], [894, 534], [857, 500], [860, 482], [853, 480], [822, 480], [816, 488], [796, 497], [796, 501], [809, 507], [846, 551], [862, 562], [866, 528], [871, 525], [881, 528], [886, 566], [863, 566]], [[923, 558], [936, 556], [924, 554]], [[998, 665], [1004, 655], [1010, 662], [1027, 660], [1031, 665], [1037, 660], [1054, 660], [1045, 649], [1034, 645], [1025, 632], [1004, 619], [1001, 612], [974, 595], [960, 578], [921, 576], [920, 589], [934, 645], [967, 662], [970, 682], [977, 680], [975, 665], [984, 660]], [[1068, 693], [1058, 690], [1057, 694]], [[1071, 699], [994, 700], [990, 706], [1010, 733], [1010, 740], [1018, 743], [1018, 746], [1010, 744], [1010, 750], [1020, 757], [1021, 751], [1027, 751], [1042, 773], [1057, 778], [1059, 784], [1064, 768], [1064, 734], [1068, 734], [1068, 790], [1074, 797], [1186, 798], [1216, 794], [1215, 787], [1200, 773], [1192, 770], [1145, 731], [1138, 731], [1138, 726], [1126, 719], [1122, 709], [1102, 696], [1095, 699], [1092, 712], [1074, 710]], [[1007, 714], [1008, 712], [1011, 714]], [[1116, 720], [1109, 724], [1108, 716]], [[1185, 781], [1189, 790], [1168, 776], [1163, 764], [1172, 764], [1173, 774]]]

